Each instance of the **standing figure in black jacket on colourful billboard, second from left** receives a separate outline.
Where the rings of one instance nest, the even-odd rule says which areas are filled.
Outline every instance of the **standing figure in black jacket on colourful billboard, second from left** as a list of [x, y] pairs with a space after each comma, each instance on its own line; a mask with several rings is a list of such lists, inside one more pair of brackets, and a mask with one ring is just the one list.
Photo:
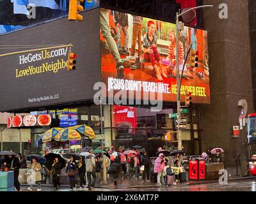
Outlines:
[[[128, 34], [128, 15], [127, 13], [114, 11], [114, 18], [115, 18], [115, 25], [117, 29], [118, 35], [118, 51], [122, 52], [123, 54], [129, 55], [128, 52], [128, 41], [129, 41], [129, 34]], [[124, 32], [125, 41], [124, 41], [124, 50], [122, 50], [122, 41], [121, 41], [121, 32]]]

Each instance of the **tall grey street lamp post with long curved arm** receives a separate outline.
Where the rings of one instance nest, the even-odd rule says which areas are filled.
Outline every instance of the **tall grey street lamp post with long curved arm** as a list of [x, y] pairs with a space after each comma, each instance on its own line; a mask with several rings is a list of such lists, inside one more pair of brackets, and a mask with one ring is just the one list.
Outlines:
[[[176, 13], [176, 82], [177, 82], [177, 123], [180, 124], [180, 84], [182, 78], [182, 75], [180, 76], [179, 73], [179, 31], [181, 30], [181, 24], [179, 23], [179, 17], [182, 16], [184, 13], [187, 13], [188, 11], [195, 10], [198, 8], [204, 8], [204, 7], [212, 7], [213, 5], [204, 5], [204, 6], [196, 6], [193, 8], [189, 8], [188, 10], [182, 11], [180, 14]], [[186, 63], [186, 61], [184, 61]], [[183, 66], [184, 68], [184, 66]], [[182, 146], [182, 140], [181, 140], [181, 130], [177, 128], [177, 140], [178, 140], [178, 149], [181, 150]]]

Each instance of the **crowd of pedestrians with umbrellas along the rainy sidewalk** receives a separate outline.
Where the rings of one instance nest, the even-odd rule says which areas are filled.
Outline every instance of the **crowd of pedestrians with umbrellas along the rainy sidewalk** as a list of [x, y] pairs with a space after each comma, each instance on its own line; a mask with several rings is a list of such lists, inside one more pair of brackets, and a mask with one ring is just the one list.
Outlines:
[[[215, 156], [211, 152], [208, 149], [205, 153], [207, 163], [222, 161], [223, 152], [221, 150], [217, 149]], [[119, 149], [119, 152], [116, 152], [113, 146], [109, 152], [102, 150], [100, 153], [93, 154], [91, 149], [86, 153], [88, 153], [86, 156], [70, 153], [71, 156], [67, 164], [66, 162], [61, 163], [60, 157], [58, 157], [60, 154], [54, 154], [50, 168], [48, 166], [45, 168], [46, 165], [37, 161], [36, 157], [30, 158], [32, 163], [28, 190], [32, 191], [33, 187], [37, 185], [37, 191], [42, 191], [41, 184], [45, 180], [44, 174], [51, 175], [54, 189], [59, 189], [61, 187], [61, 169], [63, 168], [65, 168], [65, 175], [67, 175], [70, 184], [70, 191], [76, 187], [93, 191], [96, 184], [106, 184], [109, 182], [109, 178], [113, 179], [114, 188], [118, 187], [118, 178], [138, 180], [141, 177], [142, 182], [154, 182], [158, 185], [168, 186], [176, 185], [177, 182], [187, 182], [186, 162], [183, 159], [185, 156], [184, 147], [182, 150], [174, 151], [172, 155], [159, 147], [157, 157], [154, 160], [150, 159], [147, 151]], [[61, 158], [63, 159], [62, 156]], [[17, 191], [20, 191], [18, 180], [20, 168], [27, 168], [26, 156], [21, 156], [21, 154], [1, 156], [1, 169], [2, 171], [13, 170], [14, 185]]]

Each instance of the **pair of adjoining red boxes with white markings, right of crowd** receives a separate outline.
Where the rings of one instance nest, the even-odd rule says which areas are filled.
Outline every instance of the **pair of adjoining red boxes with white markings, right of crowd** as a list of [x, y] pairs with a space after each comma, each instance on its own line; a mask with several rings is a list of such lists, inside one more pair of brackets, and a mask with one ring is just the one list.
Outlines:
[[205, 179], [205, 160], [204, 158], [195, 157], [189, 159], [189, 180]]

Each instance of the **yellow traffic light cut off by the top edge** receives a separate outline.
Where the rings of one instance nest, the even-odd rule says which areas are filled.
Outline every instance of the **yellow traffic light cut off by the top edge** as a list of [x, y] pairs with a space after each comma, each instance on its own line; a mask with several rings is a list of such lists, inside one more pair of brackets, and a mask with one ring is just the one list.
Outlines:
[[68, 20], [83, 20], [83, 17], [78, 14], [78, 11], [84, 10], [81, 6], [83, 2], [84, 0], [69, 0]]

